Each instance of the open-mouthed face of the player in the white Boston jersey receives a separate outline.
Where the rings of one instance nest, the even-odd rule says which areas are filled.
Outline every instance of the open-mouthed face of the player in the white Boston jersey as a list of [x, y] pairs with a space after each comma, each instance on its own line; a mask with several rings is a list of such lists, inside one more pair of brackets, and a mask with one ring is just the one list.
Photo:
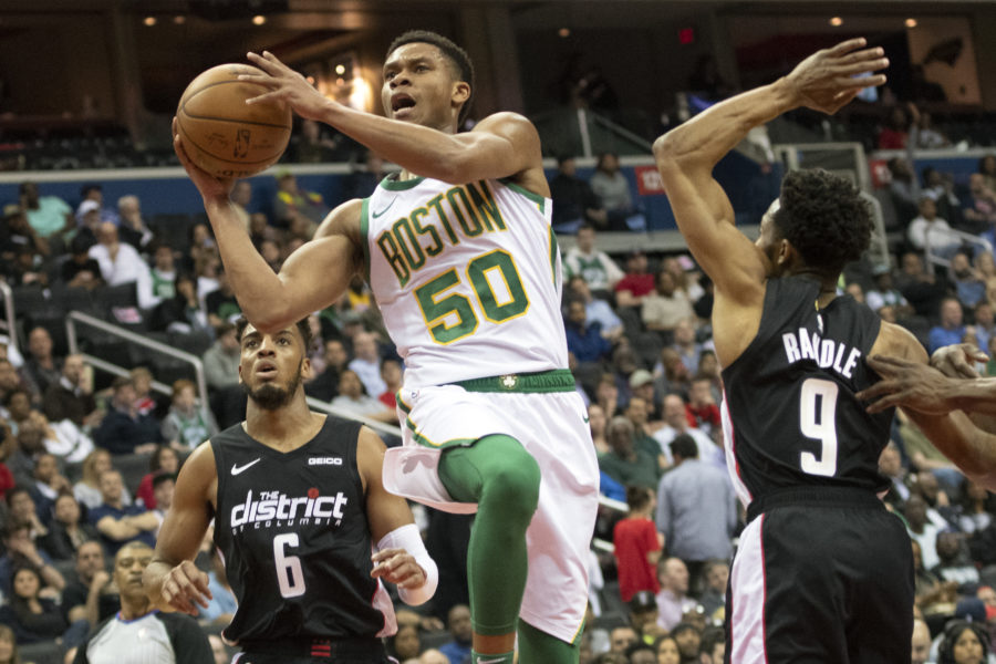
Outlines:
[[450, 62], [433, 44], [404, 44], [384, 63], [381, 103], [387, 117], [449, 132], [468, 98], [470, 86], [456, 80]]

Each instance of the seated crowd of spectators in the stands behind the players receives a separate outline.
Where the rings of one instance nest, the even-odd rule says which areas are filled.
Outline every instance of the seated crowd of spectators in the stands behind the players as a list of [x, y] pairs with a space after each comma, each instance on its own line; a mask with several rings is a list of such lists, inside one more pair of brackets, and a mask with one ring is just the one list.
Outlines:
[[[312, 152], [333, 148], [318, 141]], [[977, 344], [994, 357], [979, 370], [996, 375], [996, 158], [979, 163], [966, 191], [943, 173], [917, 177], [902, 162], [893, 165], [891, 190], [898, 209], [909, 200], [915, 214], [910, 207], [902, 217], [891, 262], [850, 267], [840, 292], [907, 326], [928, 350]], [[369, 195], [382, 169], [371, 155], [349, 195]], [[578, 177], [570, 158], [551, 180], [554, 228], [575, 235], [563, 253], [571, 369], [589, 408], [602, 494], [626, 506], [603, 507], [598, 521], [594, 535], [613, 552], [592, 553], [582, 662], [717, 663], [743, 513], [722, 444], [712, 286], [686, 255], [635, 248], [610, 256], [599, 248], [603, 230], [643, 228], [620, 178], [618, 157], [606, 154], [590, 180]], [[266, 210], [250, 207], [249, 181], [232, 191], [274, 270], [340, 203], [305, 190], [290, 173], [277, 180]], [[116, 611], [108, 562], [126, 542], [155, 543], [184, 457], [245, 413], [232, 324], [240, 310], [207, 224], [164, 234], [169, 229], [151, 226], [136, 197], [112, 204], [98, 185], [84, 187], [73, 205], [33, 183], [20, 193], [3, 206], [0, 225], [0, 272], [13, 289], [20, 341], [0, 344], [0, 625], [10, 627], [0, 629], [0, 663], [8, 641], [70, 649]], [[106, 352], [127, 375], [112, 377], [70, 354], [71, 309], [200, 355], [207, 394], [197, 393], [185, 367], [120, 340], [87, 338], [84, 347]], [[308, 394], [341, 412], [396, 422], [404, 366], [366, 284], [356, 280], [309, 322], [315, 371]], [[154, 383], [167, 384], [169, 394]], [[962, 636], [957, 625], [968, 624], [989, 652], [996, 501], [902, 414], [880, 465], [884, 499], [917, 552], [923, 626], [915, 637], [943, 654], [946, 641]], [[466, 543], [469, 518], [418, 513], [440, 570], [458, 569], [454, 542]], [[199, 564], [211, 575], [217, 604], [200, 622], [217, 633], [234, 600], [209, 540]], [[391, 640], [398, 660], [460, 664], [469, 649], [465, 604], [466, 579], [443, 574], [427, 614], [400, 611], [402, 626]], [[971, 622], [952, 622], [959, 620]]]

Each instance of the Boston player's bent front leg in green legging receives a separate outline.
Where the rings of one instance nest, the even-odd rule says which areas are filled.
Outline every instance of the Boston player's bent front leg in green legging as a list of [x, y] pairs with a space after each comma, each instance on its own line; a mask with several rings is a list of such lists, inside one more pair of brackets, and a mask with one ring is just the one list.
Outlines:
[[[447, 449], [439, 479], [454, 499], [477, 504], [467, 551], [475, 657], [511, 663], [526, 589], [526, 530], [539, 500], [540, 470], [515, 438], [485, 436]], [[477, 658], [474, 660], [477, 663]]]

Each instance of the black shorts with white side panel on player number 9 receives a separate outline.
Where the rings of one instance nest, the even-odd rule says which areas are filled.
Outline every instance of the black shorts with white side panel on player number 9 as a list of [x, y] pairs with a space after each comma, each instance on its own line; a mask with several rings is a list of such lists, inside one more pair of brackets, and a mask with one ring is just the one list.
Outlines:
[[913, 554], [870, 491], [782, 491], [751, 504], [727, 589], [726, 662], [910, 662]]

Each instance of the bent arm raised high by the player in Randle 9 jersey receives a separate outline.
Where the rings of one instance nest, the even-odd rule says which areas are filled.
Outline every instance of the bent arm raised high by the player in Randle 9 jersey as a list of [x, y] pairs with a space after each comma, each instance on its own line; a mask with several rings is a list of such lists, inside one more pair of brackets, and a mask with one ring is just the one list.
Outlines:
[[719, 293], [756, 297], [766, 258], [735, 228], [729, 199], [713, 168], [747, 133], [778, 115], [808, 106], [833, 113], [884, 75], [855, 79], [885, 68], [881, 49], [852, 39], [818, 51], [787, 76], [720, 102], [654, 143], [654, 157], [678, 228]]

